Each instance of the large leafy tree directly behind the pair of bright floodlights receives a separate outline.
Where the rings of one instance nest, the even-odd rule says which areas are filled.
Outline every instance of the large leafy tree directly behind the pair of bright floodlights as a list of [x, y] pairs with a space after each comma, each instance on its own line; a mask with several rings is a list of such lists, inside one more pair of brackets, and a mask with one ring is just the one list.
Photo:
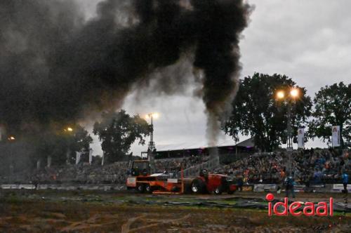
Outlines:
[[[256, 147], [263, 151], [281, 145], [286, 138], [288, 99], [278, 101], [277, 91], [289, 93], [296, 83], [282, 74], [259, 74], [241, 79], [239, 91], [232, 103], [233, 111], [230, 119], [223, 124], [223, 130], [234, 140], [239, 140], [239, 134], [251, 135]], [[298, 87], [299, 97], [291, 102], [291, 124], [293, 134], [297, 128], [307, 122], [312, 106], [305, 88]]]

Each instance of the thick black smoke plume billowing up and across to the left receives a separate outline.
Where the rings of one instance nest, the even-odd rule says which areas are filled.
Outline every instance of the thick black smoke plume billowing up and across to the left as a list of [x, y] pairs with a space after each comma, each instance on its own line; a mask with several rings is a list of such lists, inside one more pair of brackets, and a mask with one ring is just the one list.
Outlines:
[[216, 126], [250, 11], [242, 0], [107, 0], [86, 21], [74, 1], [1, 0], [0, 124], [25, 135], [119, 107], [155, 69], [192, 58]]

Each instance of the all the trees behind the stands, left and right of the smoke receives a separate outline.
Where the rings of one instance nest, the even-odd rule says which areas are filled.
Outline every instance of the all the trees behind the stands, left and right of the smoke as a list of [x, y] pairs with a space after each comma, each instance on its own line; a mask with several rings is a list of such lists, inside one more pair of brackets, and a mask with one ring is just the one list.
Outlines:
[[[277, 100], [277, 91], [288, 93], [292, 87], [299, 91], [296, 100], [290, 103]], [[272, 151], [286, 140], [289, 104], [292, 106], [293, 135], [297, 135], [298, 128], [306, 128], [306, 138], [322, 138], [330, 142], [331, 126], [340, 126], [341, 145], [351, 146], [351, 84], [340, 82], [324, 86], [312, 99], [305, 87], [298, 86], [282, 74], [255, 73], [241, 79], [239, 91], [232, 102], [232, 114], [223, 122], [222, 130], [235, 141], [239, 140], [240, 135], [249, 135], [258, 149]], [[145, 119], [138, 114], [131, 116], [123, 109], [102, 113], [100, 121], [93, 126], [106, 163], [128, 159], [135, 140], [145, 145], [145, 138], [151, 131], [152, 126]], [[3, 164], [12, 164], [15, 158], [22, 158], [27, 153], [32, 166], [36, 166], [38, 161], [45, 164], [48, 157], [51, 157], [52, 164], [58, 165], [73, 164], [76, 152], [81, 152], [81, 161], [88, 162], [91, 142], [91, 135], [79, 124], [55, 125], [51, 131], [31, 135], [20, 142], [2, 142], [0, 156]], [[15, 147], [16, 143], [23, 145]], [[25, 159], [20, 161], [27, 164]]]

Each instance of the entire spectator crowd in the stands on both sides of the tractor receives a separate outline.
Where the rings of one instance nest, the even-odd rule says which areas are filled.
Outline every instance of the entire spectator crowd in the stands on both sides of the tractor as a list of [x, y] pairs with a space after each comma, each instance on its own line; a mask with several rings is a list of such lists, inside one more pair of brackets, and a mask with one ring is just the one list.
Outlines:
[[[333, 149], [307, 149], [293, 152], [293, 175], [297, 183], [304, 185], [339, 182], [341, 172], [351, 173], [350, 151]], [[156, 159], [157, 173], [177, 173], [208, 161], [209, 157], [189, 156], [183, 158]], [[286, 152], [256, 153], [220, 166], [218, 173], [239, 177], [246, 183], [282, 183], [286, 178]], [[100, 184], [126, 182], [128, 162], [115, 162], [100, 166], [98, 164], [77, 164], [41, 168], [34, 173], [17, 174], [9, 180], [1, 177], [0, 182], [69, 182], [80, 184]]]

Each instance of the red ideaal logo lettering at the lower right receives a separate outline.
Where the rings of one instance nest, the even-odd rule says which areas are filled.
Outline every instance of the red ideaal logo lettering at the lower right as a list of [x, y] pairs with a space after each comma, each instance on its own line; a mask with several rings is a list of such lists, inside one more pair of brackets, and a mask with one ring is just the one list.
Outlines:
[[[318, 204], [314, 204], [313, 202], [302, 203], [300, 201], [294, 201], [290, 205], [287, 197], [284, 198], [284, 202], [278, 201], [274, 205], [272, 205], [271, 202], [274, 200], [273, 194], [267, 194], [265, 199], [269, 201], [268, 216], [272, 216], [272, 211], [274, 215], [277, 216], [287, 216], [288, 213], [293, 216], [333, 216], [333, 197], [329, 198], [329, 203], [319, 202]], [[278, 211], [279, 206], [282, 206], [282, 208], [284, 208], [284, 211]], [[298, 211], [300, 208], [303, 208], [302, 211]]]

